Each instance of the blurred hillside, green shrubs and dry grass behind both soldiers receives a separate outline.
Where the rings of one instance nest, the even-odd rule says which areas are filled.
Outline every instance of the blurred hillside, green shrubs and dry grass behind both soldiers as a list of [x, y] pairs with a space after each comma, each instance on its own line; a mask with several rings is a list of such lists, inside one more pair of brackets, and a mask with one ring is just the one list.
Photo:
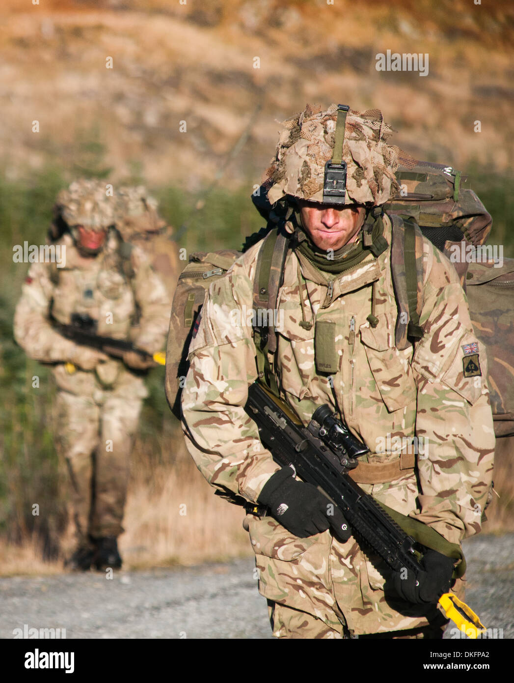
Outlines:
[[[392, 142], [468, 175], [466, 187], [494, 219], [488, 243], [514, 257], [512, 8], [496, 0], [487, 8], [461, 0], [176, 5], [48, 0], [27, 10], [7, 0], [1, 10], [0, 573], [57, 571], [70, 541], [51, 375], [12, 338], [28, 269], [14, 264], [12, 248], [44, 242], [55, 195], [74, 178], [146, 183], [188, 254], [239, 249], [262, 225], [250, 195], [274, 151], [276, 121], [306, 102], [380, 107], [398, 131]], [[429, 76], [377, 72], [375, 53], [388, 48], [429, 52]], [[162, 384], [153, 370], [132, 457], [128, 566], [249, 552], [241, 511], [216, 499], [195, 470]], [[513, 528], [512, 460], [498, 470], [502, 501], [486, 530]], [[177, 525], [182, 503], [188, 515]]]

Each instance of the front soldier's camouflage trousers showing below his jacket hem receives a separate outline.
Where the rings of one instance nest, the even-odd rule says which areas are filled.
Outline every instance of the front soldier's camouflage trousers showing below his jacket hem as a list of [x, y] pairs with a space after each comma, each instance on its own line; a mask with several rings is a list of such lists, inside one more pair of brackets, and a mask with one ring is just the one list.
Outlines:
[[[273, 635], [276, 638], [291, 639], [315, 639], [315, 640], [334, 640], [349, 639], [351, 636], [345, 626], [345, 620], [341, 613], [334, 612], [332, 627], [328, 626], [322, 619], [318, 619], [312, 614], [302, 612], [285, 604], [268, 600], [268, 615], [270, 617]], [[360, 635], [362, 639], [441, 639], [444, 629], [448, 624], [448, 619], [442, 615], [430, 626], [420, 628], [410, 628], [408, 630], [388, 631], [381, 633], [370, 633]]]

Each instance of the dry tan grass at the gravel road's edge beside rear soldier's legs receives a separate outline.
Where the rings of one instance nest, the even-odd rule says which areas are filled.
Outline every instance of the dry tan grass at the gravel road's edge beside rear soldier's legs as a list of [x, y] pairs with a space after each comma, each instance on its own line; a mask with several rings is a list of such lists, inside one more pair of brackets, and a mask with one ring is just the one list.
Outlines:
[[[132, 454], [130, 486], [119, 548], [125, 569], [190, 566], [251, 555], [242, 528], [244, 510], [216, 497], [188, 456], [183, 439], [174, 439], [173, 464], [155, 464], [138, 441]], [[63, 557], [74, 549], [70, 522], [61, 539]], [[27, 537], [20, 545], [0, 540], [0, 576], [45, 575], [63, 571], [62, 559], [44, 562], [41, 546]]]

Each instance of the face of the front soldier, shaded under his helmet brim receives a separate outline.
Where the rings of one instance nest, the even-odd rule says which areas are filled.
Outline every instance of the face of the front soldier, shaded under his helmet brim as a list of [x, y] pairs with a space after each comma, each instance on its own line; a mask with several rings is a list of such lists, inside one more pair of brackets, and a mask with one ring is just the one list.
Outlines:
[[353, 242], [366, 216], [366, 209], [363, 206], [334, 208], [328, 204], [304, 199], [298, 199], [298, 206], [305, 231], [322, 251], [337, 251]]

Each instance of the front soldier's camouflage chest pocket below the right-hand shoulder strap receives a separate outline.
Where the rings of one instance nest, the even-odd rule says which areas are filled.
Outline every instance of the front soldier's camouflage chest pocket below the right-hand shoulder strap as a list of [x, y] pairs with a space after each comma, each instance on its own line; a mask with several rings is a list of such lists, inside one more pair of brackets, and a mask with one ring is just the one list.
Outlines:
[[416, 400], [416, 382], [405, 354], [395, 347], [396, 313], [382, 313], [373, 329], [369, 322], [360, 326], [360, 341], [377, 390], [392, 413]]

